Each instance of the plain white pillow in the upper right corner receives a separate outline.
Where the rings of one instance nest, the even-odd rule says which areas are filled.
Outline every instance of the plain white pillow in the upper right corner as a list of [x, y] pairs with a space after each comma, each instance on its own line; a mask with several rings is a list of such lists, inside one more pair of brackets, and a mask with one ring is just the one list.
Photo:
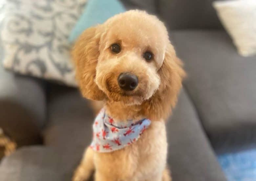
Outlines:
[[213, 6], [239, 54], [256, 54], [256, 0], [215, 1]]

